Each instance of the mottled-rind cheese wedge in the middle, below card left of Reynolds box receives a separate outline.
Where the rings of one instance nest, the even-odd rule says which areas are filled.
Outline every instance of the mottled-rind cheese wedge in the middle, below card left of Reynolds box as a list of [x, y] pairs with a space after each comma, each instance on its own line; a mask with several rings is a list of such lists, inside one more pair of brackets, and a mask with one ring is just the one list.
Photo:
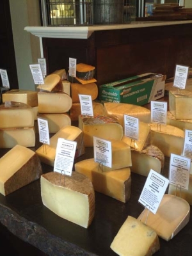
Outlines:
[[[93, 136], [104, 140], [122, 140], [124, 130], [113, 118], [108, 116], [79, 116], [79, 128], [83, 131], [85, 147], [93, 147]], [[113, 132], [112, 132], [113, 131]]]

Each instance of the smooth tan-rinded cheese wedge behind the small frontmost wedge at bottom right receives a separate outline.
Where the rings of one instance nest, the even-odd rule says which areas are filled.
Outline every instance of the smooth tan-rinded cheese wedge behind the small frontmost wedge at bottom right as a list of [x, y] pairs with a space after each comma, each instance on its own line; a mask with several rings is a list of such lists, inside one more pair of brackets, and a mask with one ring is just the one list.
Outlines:
[[178, 196], [165, 194], [156, 214], [143, 210], [138, 220], [143, 223], [147, 220], [148, 227], [153, 228], [157, 235], [170, 241], [189, 222], [190, 205]]

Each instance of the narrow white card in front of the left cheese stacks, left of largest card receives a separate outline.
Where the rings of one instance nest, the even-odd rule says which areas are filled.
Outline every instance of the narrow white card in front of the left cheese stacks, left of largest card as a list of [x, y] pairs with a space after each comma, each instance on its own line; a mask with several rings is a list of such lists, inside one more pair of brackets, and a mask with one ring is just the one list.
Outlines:
[[38, 122], [39, 141], [44, 144], [50, 145], [48, 121], [44, 118], [37, 118], [37, 122]]

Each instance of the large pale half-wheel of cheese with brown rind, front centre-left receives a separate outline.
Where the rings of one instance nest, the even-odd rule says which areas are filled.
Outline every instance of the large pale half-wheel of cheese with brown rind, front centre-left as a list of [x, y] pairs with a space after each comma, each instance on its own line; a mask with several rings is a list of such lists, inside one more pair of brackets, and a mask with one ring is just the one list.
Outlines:
[[57, 172], [46, 173], [41, 177], [41, 196], [43, 204], [61, 218], [84, 228], [92, 223], [95, 193], [85, 175], [72, 172], [72, 176], [61, 177]]

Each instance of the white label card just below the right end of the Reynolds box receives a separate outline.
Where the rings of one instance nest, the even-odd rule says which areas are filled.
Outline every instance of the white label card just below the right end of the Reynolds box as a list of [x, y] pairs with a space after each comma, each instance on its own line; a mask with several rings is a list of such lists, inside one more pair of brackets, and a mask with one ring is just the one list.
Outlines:
[[151, 101], [151, 122], [156, 124], [166, 124], [167, 102]]

